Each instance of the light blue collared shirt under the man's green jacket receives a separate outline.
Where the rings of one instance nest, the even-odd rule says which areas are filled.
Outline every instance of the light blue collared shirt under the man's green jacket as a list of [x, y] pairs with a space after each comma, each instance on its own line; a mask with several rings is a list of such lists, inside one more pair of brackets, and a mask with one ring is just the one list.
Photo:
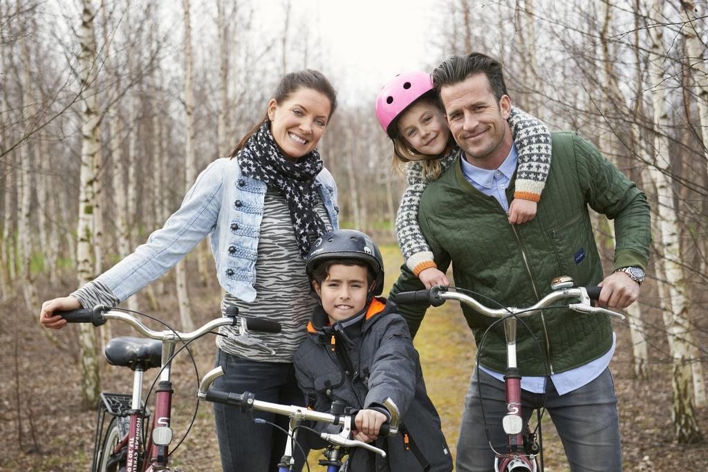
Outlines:
[[[508, 213], [509, 202], [506, 200], [506, 189], [509, 188], [509, 184], [516, 170], [516, 164], [518, 163], [516, 146], [511, 146], [509, 155], [506, 156], [506, 159], [504, 159], [501, 166], [497, 169], [489, 170], [473, 166], [464, 159], [464, 156], [462, 156], [462, 159], [459, 161], [462, 166], [464, 178], [466, 178], [474, 188], [484, 193], [484, 195], [496, 198], [499, 205]], [[581, 365], [581, 367], [576, 367], [575, 369], [561, 372], [560, 374], [552, 374], [551, 381], [556, 387], [558, 394], [564, 395], [577, 388], [581, 388], [602, 374], [605, 369], [607, 369], [607, 366], [610, 365], [610, 359], [612, 359], [612, 355], [615, 354], [616, 344], [617, 335], [612, 333], [612, 347], [610, 347], [610, 350], [605, 352], [602, 357], [598, 357], [598, 359]], [[504, 380], [504, 374], [486, 369], [486, 367], [482, 366], [479, 366], [479, 368], [495, 379]], [[544, 393], [545, 387], [546, 377], [544, 376], [525, 376], [521, 379], [521, 388], [525, 391]]]

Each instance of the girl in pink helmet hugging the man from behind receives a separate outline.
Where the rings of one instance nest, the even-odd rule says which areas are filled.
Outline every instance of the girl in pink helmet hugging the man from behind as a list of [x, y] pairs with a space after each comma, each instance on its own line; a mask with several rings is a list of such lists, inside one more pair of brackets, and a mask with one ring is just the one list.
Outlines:
[[[406, 266], [426, 288], [449, 285], [433, 261], [418, 226], [418, 205], [426, 185], [457, 160], [459, 149], [452, 139], [440, 101], [425, 72], [399, 74], [385, 84], [376, 98], [376, 115], [394, 142], [394, 168], [408, 166], [408, 185], [396, 216], [396, 234]], [[551, 135], [543, 122], [512, 108], [509, 125], [518, 152], [514, 200], [509, 222], [521, 224], [536, 216], [551, 163]]]

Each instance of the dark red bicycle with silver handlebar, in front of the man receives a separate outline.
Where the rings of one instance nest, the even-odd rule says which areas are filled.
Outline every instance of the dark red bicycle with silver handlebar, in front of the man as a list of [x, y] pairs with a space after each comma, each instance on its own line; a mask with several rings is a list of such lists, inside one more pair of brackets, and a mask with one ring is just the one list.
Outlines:
[[[450, 290], [455, 292], [450, 292]], [[564, 304], [579, 313], [600, 313], [624, 321], [624, 316], [614, 311], [598, 306], [592, 306], [590, 301], [600, 297], [601, 287], [574, 287], [573, 279], [567, 276], [556, 277], [551, 282], [551, 293], [540, 299], [535, 305], [527, 308], [502, 307], [501, 309], [491, 309], [484, 306], [476, 299], [462, 292], [457, 292], [455, 287], [443, 287], [436, 285], [428, 290], [417, 290], [415, 292], [401, 292], [396, 294], [396, 303], [415, 304], [429, 303], [432, 306], [440, 306], [447, 300], [457, 300], [460, 303], [471, 306], [477, 312], [498, 318], [496, 322], [503, 322], [506, 336], [506, 359], [507, 367], [504, 372], [504, 388], [506, 391], [506, 410], [508, 413], [502, 419], [502, 428], [506, 434], [506, 451], [496, 451], [490, 441], [489, 446], [494, 451], [494, 471], [495, 472], [537, 472], [543, 471], [543, 451], [536, 442], [536, 433], [526, 430], [523, 426], [523, 412], [521, 408], [521, 375], [516, 359], [516, 327], [518, 318], [532, 316], [533, 314], [548, 308], [559, 308], [558, 305], [551, 306], [555, 301], [562, 299], [579, 299], [578, 303]], [[501, 306], [501, 304], [499, 305]], [[495, 322], [495, 323], [496, 323]], [[478, 350], [479, 353], [479, 350]], [[475, 361], [475, 367], [479, 367], [479, 359]], [[540, 425], [540, 418], [539, 418]], [[486, 423], [485, 423], [486, 429]], [[539, 434], [540, 437], [540, 434]], [[489, 439], [489, 438], [488, 438]]]

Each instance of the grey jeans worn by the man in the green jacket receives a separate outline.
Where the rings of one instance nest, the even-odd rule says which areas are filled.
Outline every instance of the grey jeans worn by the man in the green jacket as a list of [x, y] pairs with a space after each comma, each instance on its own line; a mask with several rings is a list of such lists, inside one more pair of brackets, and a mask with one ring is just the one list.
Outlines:
[[[479, 379], [491, 443], [497, 451], [505, 451], [506, 436], [501, 427], [501, 418], [506, 414], [504, 384], [481, 370]], [[532, 408], [543, 405], [543, 395], [521, 392], [526, 423]], [[605, 369], [589, 384], [563, 396], [559, 396], [549, 381], [546, 408], [563, 442], [571, 471], [622, 471], [617, 397], [610, 369]], [[484, 433], [475, 372], [464, 401], [456, 468], [458, 472], [489, 472], [494, 470], [493, 464], [494, 453]]]

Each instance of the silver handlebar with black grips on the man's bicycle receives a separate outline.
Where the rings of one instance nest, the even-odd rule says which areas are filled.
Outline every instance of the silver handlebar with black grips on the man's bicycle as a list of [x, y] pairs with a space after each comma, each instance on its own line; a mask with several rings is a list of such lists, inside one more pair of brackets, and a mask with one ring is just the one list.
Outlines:
[[592, 304], [590, 304], [590, 300], [597, 300], [600, 297], [600, 290], [602, 287], [563, 287], [555, 289], [553, 292], [540, 299], [536, 304], [528, 306], [527, 308], [510, 306], [503, 309], [491, 309], [488, 306], [481, 304], [479, 301], [476, 301], [476, 299], [469, 297], [469, 295], [463, 294], [462, 292], [450, 292], [449, 289], [455, 289], [455, 287], [435, 285], [429, 290], [401, 292], [396, 294], [394, 298], [398, 304], [429, 303], [432, 306], [440, 306], [445, 303], [446, 300], [450, 299], [457, 300], [460, 303], [471, 306], [477, 312], [485, 316], [491, 316], [492, 318], [503, 318], [511, 314], [516, 316], [530, 316], [535, 313], [535, 311], [545, 308], [546, 306], [550, 306], [554, 303], [554, 301], [575, 298], [580, 299], [580, 302], [568, 304], [568, 308], [573, 311], [578, 311], [581, 313], [605, 313], [624, 321], [623, 315], [615, 313], [615, 311], [600, 308], [598, 306], [592, 306]]

